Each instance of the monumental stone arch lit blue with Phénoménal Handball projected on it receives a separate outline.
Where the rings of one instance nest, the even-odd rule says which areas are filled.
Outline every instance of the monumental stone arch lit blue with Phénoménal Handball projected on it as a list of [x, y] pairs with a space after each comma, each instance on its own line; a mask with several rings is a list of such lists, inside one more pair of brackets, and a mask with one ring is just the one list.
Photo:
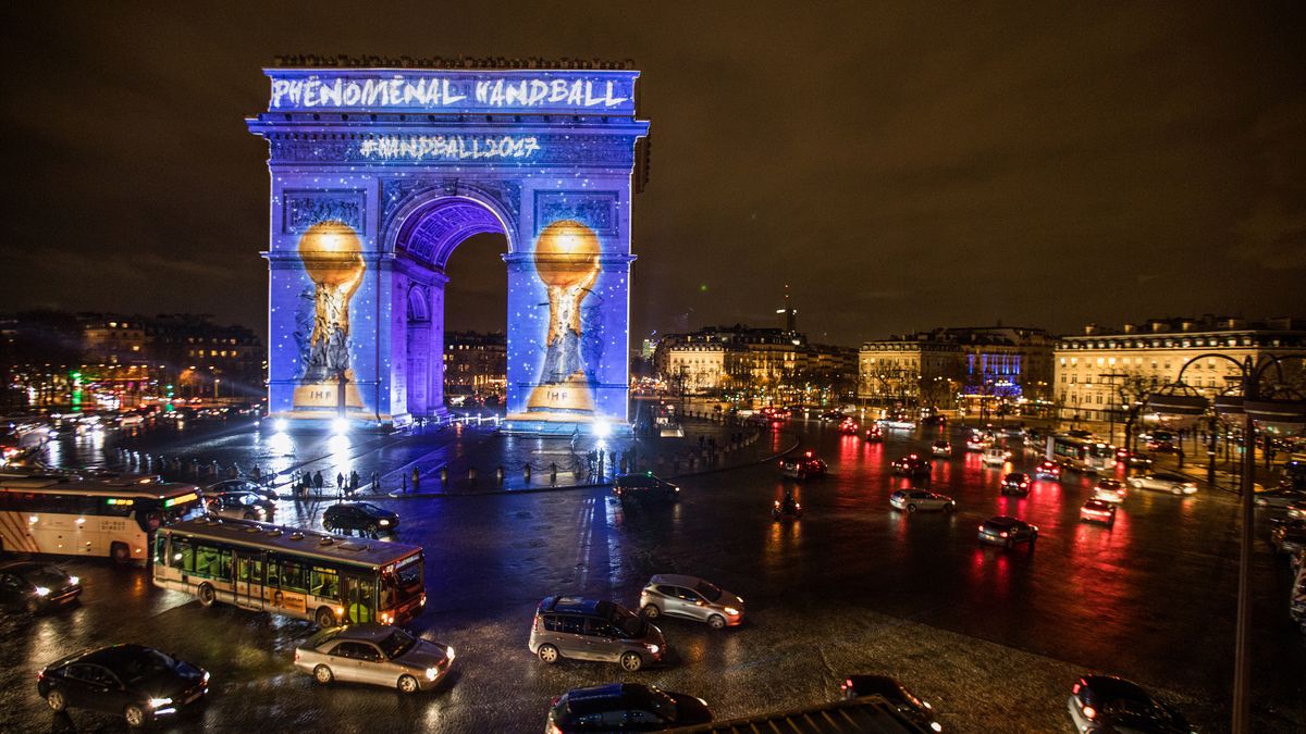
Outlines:
[[[332, 59], [330, 61], [334, 61]], [[639, 72], [266, 69], [274, 417], [444, 411], [444, 286], [507, 242], [511, 430], [624, 422]], [[567, 427], [564, 427], [567, 426]]]

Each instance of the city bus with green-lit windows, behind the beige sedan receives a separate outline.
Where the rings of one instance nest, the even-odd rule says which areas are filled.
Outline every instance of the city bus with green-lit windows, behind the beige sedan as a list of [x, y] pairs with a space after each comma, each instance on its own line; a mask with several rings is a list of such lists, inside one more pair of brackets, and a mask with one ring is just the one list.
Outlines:
[[419, 546], [255, 520], [199, 517], [154, 538], [155, 586], [323, 628], [417, 616], [426, 606], [423, 566]]

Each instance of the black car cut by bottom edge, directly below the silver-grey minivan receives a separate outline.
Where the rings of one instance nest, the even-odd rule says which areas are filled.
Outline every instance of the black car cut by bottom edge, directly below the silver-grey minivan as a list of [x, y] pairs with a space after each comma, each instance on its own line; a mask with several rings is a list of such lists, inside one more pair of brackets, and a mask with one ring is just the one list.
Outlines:
[[554, 699], [549, 731], [660, 731], [712, 721], [703, 699], [641, 683], [572, 688]]

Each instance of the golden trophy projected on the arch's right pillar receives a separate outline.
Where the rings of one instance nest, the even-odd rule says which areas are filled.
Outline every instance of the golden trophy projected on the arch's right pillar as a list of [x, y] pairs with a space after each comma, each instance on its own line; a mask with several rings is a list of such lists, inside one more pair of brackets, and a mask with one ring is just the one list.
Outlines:
[[590, 421], [594, 397], [580, 357], [580, 303], [598, 279], [598, 235], [575, 219], [545, 227], [535, 242], [535, 272], [549, 289], [549, 336], [539, 384], [524, 418]]

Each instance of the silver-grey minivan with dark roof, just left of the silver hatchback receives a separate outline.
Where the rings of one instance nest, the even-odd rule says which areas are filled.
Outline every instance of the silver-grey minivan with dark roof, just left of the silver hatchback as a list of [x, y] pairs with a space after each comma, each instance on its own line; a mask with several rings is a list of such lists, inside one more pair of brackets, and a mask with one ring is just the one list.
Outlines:
[[526, 645], [550, 665], [568, 657], [619, 662], [627, 671], [666, 654], [666, 637], [654, 624], [618, 603], [582, 597], [545, 597]]

